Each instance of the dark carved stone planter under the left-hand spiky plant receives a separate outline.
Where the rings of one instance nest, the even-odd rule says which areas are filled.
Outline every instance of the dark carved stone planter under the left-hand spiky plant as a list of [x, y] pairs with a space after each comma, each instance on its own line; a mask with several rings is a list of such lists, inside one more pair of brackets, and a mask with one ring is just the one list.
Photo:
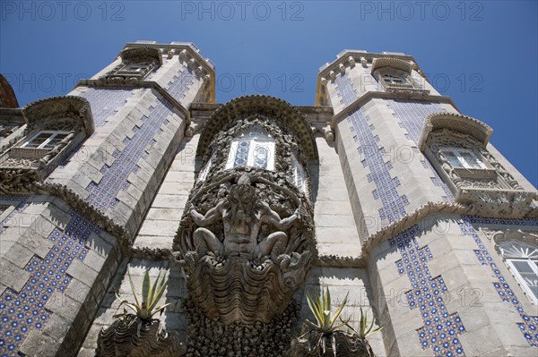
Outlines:
[[100, 331], [96, 357], [172, 357], [183, 356], [185, 347], [178, 341], [178, 333], [167, 333], [159, 319], [140, 323], [136, 317], [117, 319]]

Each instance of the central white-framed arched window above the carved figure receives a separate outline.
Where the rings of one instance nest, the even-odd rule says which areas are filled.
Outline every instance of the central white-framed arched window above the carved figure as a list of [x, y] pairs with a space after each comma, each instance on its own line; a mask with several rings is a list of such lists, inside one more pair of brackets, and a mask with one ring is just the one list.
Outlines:
[[226, 168], [238, 166], [274, 168], [274, 139], [263, 129], [253, 127], [231, 142]]

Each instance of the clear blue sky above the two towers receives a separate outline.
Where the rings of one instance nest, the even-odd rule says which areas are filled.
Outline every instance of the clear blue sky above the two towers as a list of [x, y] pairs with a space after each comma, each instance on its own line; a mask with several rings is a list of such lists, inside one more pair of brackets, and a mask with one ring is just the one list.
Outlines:
[[137, 39], [194, 42], [221, 103], [265, 93], [311, 106], [318, 68], [344, 48], [404, 52], [538, 185], [536, 1], [2, 0], [0, 21], [0, 72], [22, 106], [64, 95]]

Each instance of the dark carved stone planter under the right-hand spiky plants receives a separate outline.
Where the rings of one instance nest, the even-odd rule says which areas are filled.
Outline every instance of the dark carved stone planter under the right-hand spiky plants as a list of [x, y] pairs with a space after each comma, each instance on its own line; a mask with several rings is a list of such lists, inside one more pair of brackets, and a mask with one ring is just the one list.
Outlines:
[[343, 331], [321, 336], [311, 331], [304, 337], [291, 342], [291, 349], [286, 357], [373, 357], [369, 343], [356, 335], [348, 335]]

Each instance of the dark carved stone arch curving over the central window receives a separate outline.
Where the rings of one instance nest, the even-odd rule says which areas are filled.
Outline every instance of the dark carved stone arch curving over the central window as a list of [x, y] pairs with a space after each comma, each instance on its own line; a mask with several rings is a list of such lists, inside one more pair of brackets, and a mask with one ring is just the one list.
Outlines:
[[214, 136], [221, 132], [227, 123], [251, 115], [264, 115], [285, 124], [297, 136], [300, 150], [305, 156], [308, 159], [317, 159], [316, 141], [304, 115], [282, 99], [260, 95], [235, 98], [215, 110], [200, 135], [196, 156], [204, 157]]

